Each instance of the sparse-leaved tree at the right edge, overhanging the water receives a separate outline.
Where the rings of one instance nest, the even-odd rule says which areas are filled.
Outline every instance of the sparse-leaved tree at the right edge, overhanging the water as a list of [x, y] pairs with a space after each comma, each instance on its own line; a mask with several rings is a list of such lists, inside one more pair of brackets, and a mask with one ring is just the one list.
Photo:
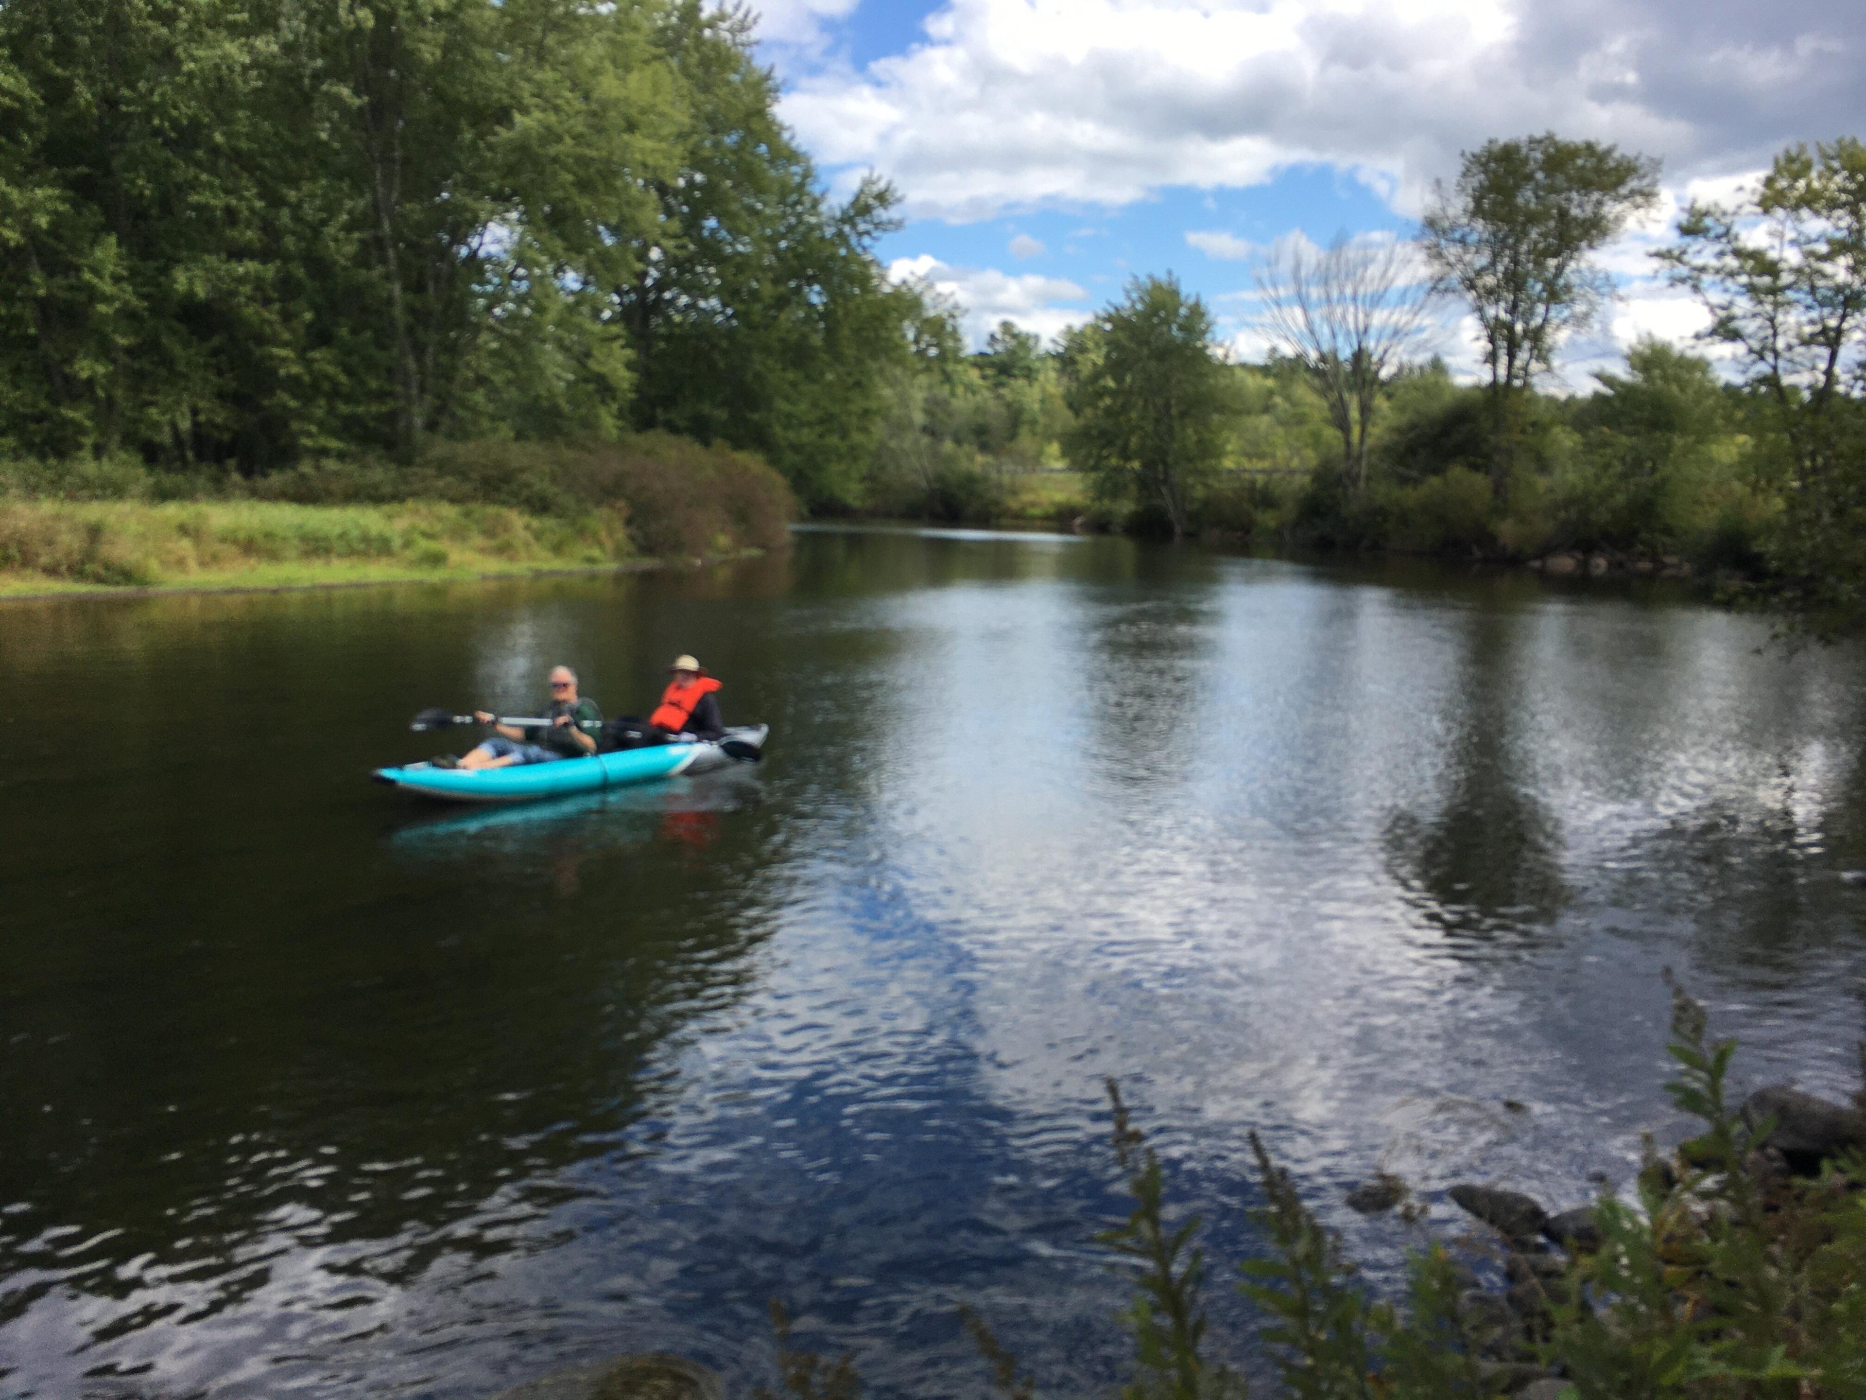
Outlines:
[[1754, 192], [1692, 203], [1661, 254], [1711, 312], [1784, 444], [1784, 597], [1866, 616], [1866, 146], [1782, 151]]

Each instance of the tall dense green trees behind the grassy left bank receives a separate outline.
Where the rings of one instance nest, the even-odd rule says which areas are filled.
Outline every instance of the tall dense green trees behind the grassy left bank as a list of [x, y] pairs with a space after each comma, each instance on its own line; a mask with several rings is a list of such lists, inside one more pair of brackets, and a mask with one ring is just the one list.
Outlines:
[[924, 308], [776, 95], [702, 0], [6, 0], [0, 454], [664, 429], [845, 500]]

